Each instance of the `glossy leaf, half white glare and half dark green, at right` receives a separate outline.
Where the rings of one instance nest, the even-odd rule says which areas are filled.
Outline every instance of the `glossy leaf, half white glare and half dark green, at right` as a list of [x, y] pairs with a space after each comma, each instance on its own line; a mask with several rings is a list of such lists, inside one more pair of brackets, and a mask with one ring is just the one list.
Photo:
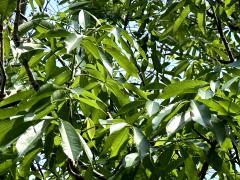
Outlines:
[[190, 106], [192, 120], [201, 124], [204, 127], [208, 127], [211, 119], [211, 113], [209, 109], [205, 105], [199, 104], [195, 100], [191, 101]]

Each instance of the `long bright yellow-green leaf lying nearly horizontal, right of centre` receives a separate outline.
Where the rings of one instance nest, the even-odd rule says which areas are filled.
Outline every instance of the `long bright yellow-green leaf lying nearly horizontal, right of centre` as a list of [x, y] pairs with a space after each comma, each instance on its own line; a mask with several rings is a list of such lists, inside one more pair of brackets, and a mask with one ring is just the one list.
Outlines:
[[170, 97], [174, 97], [180, 94], [185, 94], [186, 91], [189, 89], [197, 89], [206, 85], [207, 82], [200, 80], [184, 80], [180, 82], [175, 82], [173, 84], [167, 85], [163, 89], [161, 97], [164, 99], [168, 99]]

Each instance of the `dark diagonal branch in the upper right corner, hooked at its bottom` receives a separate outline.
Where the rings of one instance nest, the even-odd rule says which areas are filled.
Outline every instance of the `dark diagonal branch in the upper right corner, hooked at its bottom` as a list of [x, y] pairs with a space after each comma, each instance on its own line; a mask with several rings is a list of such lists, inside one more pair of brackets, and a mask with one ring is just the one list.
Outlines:
[[[222, 40], [222, 42], [223, 42], [223, 44], [224, 44], [224, 46], [225, 46], [225, 49], [226, 49], [227, 54], [228, 54], [228, 57], [229, 57], [229, 59], [230, 59], [230, 61], [225, 62], [224, 64], [233, 63], [235, 58], [234, 58], [233, 53], [232, 53], [232, 50], [231, 50], [231, 48], [230, 48], [230, 46], [229, 46], [229, 44], [228, 44], [228, 42], [227, 42], [227, 39], [226, 39], [226, 37], [225, 37], [225, 35], [224, 35], [224, 33], [223, 33], [223, 30], [222, 30], [222, 22], [221, 22], [220, 18], [217, 17], [217, 15], [216, 15], [216, 13], [215, 13], [215, 11], [214, 11], [214, 9], [213, 9], [212, 3], [211, 3], [209, 0], [208, 0], [208, 2], [209, 2], [209, 4], [210, 4], [211, 10], [212, 10], [212, 12], [213, 12], [213, 18], [214, 18], [214, 20], [215, 20], [215, 22], [216, 22], [216, 24], [217, 24], [218, 33], [219, 33], [219, 35], [220, 35], [220, 37], [221, 37], [221, 40]], [[224, 61], [220, 61], [220, 62], [223, 63]]]

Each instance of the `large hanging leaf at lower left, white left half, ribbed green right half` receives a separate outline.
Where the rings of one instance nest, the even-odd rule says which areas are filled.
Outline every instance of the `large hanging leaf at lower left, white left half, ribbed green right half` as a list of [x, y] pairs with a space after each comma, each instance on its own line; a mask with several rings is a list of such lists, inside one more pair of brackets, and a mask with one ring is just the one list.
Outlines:
[[82, 150], [79, 134], [69, 122], [63, 120], [60, 122], [59, 131], [62, 137], [63, 151], [75, 163]]

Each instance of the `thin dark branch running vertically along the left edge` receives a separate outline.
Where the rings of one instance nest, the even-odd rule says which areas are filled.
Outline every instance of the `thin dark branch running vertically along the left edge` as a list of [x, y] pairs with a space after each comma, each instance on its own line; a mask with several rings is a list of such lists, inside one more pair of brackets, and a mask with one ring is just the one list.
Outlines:
[[0, 71], [1, 71], [1, 89], [0, 89], [0, 101], [5, 96], [5, 84], [6, 84], [6, 73], [4, 70], [4, 56], [3, 56], [3, 19], [0, 20]]

